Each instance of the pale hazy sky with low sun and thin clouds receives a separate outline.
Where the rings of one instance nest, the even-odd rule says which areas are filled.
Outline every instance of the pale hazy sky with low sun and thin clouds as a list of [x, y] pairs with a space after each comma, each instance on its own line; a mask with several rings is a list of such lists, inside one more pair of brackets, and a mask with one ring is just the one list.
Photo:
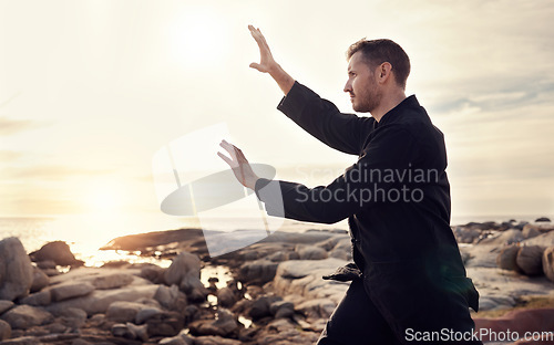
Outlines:
[[278, 178], [342, 174], [357, 157], [296, 127], [248, 67], [248, 24], [347, 113], [346, 49], [394, 40], [445, 136], [453, 217], [554, 216], [553, 20], [552, 1], [0, 0], [0, 216], [160, 213], [153, 157], [217, 124]]

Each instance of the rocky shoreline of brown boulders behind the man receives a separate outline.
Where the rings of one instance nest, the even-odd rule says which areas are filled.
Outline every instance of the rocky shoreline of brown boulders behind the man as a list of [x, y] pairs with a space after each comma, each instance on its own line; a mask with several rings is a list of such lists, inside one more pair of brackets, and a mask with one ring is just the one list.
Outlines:
[[[550, 221], [453, 227], [481, 294], [478, 326], [505, 326], [510, 314], [502, 323], [482, 315], [531, 296], [554, 300], [552, 230]], [[122, 237], [102, 249], [172, 263], [86, 268], [64, 242], [28, 254], [17, 238], [0, 241], [0, 344], [314, 344], [348, 289], [321, 276], [351, 261], [343, 230], [276, 232], [216, 258], [199, 229]], [[201, 281], [222, 266], [227, 281]], [[554, 320], [554, 310], [544, 317]]]

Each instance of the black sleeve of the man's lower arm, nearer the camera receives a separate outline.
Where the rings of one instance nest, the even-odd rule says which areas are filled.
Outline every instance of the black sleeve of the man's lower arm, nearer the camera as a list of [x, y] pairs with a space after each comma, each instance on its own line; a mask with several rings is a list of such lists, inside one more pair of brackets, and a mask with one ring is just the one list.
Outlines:
[[[259, 179], [255, 191], [265, 202], [267, 213], [334, 223], [375, 203], [390, 201], [389, 190], [398, 188], [401, 192], [418, 148], [416, 138], [407, 129], [383, 126], [377, 130], [359, 160], [328, 186], [308, 188], [300, 184]], [[280, 196], [276, 195], [279, 189]], [[396, 197], [397, 192], [393, 195]]]

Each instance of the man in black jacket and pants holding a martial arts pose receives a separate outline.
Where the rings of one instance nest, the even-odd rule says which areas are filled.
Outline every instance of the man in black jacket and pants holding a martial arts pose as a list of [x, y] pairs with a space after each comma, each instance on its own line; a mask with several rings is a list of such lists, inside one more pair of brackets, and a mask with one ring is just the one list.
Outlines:
[[[259, 29], [249, 30], [260, 51], [260, 63], [250, 67], [269, 73], [283, 90], [278, 108], [330, 147], [358, 155], [328, 186], [307, 188], [258, 178], [238, 148], [220, 144], [230, 158], [219, 156], [269, 215], [349, 220], [356, 266], [335, 278], [352, 282], [318, 344], [482, 344], [472, 336], [469, 313], [469, 306], [478, 309], [478, 292], [449, 224], [443, 135], [416, 96], [404, 94], [406, 52], [390, 40], [349, 48], [345, 92], [356, 112], [371, 113], [358, 117], [296, 82], [275, 62]], [[271, 184], [278, 184], [281, 198], [267, 188]]]

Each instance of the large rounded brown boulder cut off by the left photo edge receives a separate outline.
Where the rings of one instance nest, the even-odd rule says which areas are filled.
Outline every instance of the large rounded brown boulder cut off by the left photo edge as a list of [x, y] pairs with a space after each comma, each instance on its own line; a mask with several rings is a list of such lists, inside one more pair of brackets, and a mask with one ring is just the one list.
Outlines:
[[18, 238], [0, 241], [0, 300], [25, 296], [32, 284], [33, 268]]

